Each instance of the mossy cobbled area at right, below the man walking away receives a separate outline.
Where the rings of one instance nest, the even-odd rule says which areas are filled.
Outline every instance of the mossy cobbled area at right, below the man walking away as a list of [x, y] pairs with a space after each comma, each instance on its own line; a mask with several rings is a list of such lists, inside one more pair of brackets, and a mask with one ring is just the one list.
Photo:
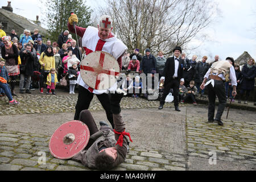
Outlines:
[[250, 167], [247, 169], [255, 170], [255, 119], [254, 121], [222, 119], [222, 121], [224, 126], [220, 127], [217, 123], [205, 122], [204, 118], [187, 115], [188, 155], [208, 160], [209, 152], [216, 152], [218, 160], [241, 166], [248, 164]]

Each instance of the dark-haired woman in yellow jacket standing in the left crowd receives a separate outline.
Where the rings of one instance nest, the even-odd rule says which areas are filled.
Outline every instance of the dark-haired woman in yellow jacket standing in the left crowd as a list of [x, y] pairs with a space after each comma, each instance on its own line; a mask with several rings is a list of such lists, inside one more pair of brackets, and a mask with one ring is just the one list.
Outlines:
[[39, 63], [41, 65], [41, 74], [42, 78], [40, 79], [40, 92], [43, 92], [43, 84], [46, 81], [47, 75], [49, 74], [52, 68], [55, 68], [55, 58], [52, 51], [52, 47], [47, 47], [47, 49], [42, 52], [39, 58]]

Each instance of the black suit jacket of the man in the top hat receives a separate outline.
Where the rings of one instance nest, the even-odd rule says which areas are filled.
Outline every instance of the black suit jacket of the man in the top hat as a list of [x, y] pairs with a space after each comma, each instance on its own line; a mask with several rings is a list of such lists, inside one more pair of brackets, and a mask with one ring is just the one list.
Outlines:
[[[166, 60], [166, 64], [164, 65], [164, 72], [163, 76], [165, 77], [164, 83], [168, 83], [171, 78], [174, 76], [175, 72], [175, 63], [174, 63], [174, 56], [168, 57]], [[179, 68], [177, 71], [177, 78], [180, 80], [181, 78], [184, 78], [183, 73], [183, 61], [179, 59]]]

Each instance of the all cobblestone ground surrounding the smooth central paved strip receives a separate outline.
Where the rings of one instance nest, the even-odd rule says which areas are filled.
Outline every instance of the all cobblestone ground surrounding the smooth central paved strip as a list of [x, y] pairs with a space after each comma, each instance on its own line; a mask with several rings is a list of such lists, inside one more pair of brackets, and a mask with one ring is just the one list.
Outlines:
[[[1, 115], [63, 113], [74, 111], [77, 94], [75, 95], [28, 95], [16, 97], [18, 106], [7, 104], [7, 98], [0, 98]], [[49, 105], [52, 106], [49, 109]], [[146, 101], [142, 98], [124, 97], [121, 102], [123, 109], [157, 108], [159, 101]], [[166, 104], [165, 107], [173, 106]], [[217, 153], [217, 163], [232, 163], [234, 167], [225, 169], [255, 170], [256, 166], [256, 137], [255, 113], [243, 118], [224, 119], [224, 126], [217, 123], [205, 122], [206, 105], [203, 113], [186, 114], [185, 155], [172, 154], [168, 151], [145, 150], [130, 148], [125, 163], [113, 170], [142, 170], [142, 171], [171, 171], [171, 170], [205, 170], [220, 169], [209, 167], [209, 152]], [[191, 109], [190, 108], [190, 109]], [[94, 97], [90, 110], [102, 110], [97, 98]], [[254, 116], [254, 117], [252, 117]], [[72, 160], [53, 158], [48, 149], [49, 135], [22, 133], [9, 129], [0, 129], [0, 170], [29, 171], [29, 170], [90, 170]], [[38, 153], [41, 151], [42, 153]], [[42, 156], [46, 156], [46, 164]], [[214, 166], [214, 165], [213, 165]]]

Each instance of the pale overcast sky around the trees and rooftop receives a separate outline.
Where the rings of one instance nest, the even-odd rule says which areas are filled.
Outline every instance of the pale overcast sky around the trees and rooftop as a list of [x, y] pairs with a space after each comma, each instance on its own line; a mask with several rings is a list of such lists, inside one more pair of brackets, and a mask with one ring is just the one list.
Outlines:
[[[10, 0], [9, 0], [10, 1]], [[219, 3], [221, 18], [214, 23], [205, 32], [209, 34], [209, 41], [201, 42], [195, 40], [202, 46], [191, 54], [207, 55], [214, 57], [219, 55], [221, 59], [233, 56], [237, 59], [244, 51], [250, 53], [256, 58], [256, 30], [253, 30], [256, 24], [256, 1], [255, 0], [214, 0]], [[87, 0], [86, 5], [97, 6], [100, 1]], [[7, 6], [7, 0], [1, 0], [0, 6]], [[35, 20], [39, 15], [42, 20], [41, 9], [43, 6], [39, 0], [11, 0], [13, 13], [22, 15], [28, 19]], [[191, 57], [188, 57], [189, 59]], [[200, 58], [199, 58], [200, 59]], [[210, 58], [209, 58], [210, 59]]]

